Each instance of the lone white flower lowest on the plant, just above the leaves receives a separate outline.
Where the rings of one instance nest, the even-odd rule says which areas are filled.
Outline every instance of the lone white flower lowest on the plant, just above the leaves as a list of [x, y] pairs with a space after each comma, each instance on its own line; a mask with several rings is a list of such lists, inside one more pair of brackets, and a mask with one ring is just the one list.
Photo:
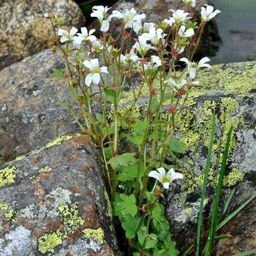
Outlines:
[[157, 170], [151, 170], [148, 173], [149, 177], [155, 178], [163, 184], [164, 189], [169, 189], [170, 183], [176, 179], [183, 179], [183, 174], [175, 172], [172, 168], [166, 173], [163, 167]]

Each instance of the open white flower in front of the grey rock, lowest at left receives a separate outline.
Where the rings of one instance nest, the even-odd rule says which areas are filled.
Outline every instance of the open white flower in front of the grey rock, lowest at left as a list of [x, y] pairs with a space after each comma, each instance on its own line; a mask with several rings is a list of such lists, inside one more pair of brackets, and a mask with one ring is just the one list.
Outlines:
[[98, 58], [93, 58], [92, 60], [85, 60], [83, 61], [84, 66], [86, 66], [90, 73], [86, 76], [86, 85], [90, 86], [90, 84], [93, 82], [93, 84], [99, 84], [99, 81], [101, 80], [101, 73], [108, 73], [107, 67], [99, 67], [99, 60]]

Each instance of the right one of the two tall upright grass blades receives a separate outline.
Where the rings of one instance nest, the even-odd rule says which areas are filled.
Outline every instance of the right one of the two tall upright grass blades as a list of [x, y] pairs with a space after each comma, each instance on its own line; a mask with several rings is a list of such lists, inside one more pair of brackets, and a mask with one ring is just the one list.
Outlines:
[[215, 236], [216, 236], [216, 229], [217, 229], [217, 222], [218, 222], [219, 199], [220, 199], [221, 189], [222, 189], [222, 185], [223, 185], [223, 178], [224, 178], [224, 174], [225, 174], [225, 170], [226, 170], [226, 162], [228, 160], [228, 151], [229, 151], [229, 145], [230, 145], [230, 141], [231, 141], [232, 132], [233, 132], [233, 127], [231, 126], [231, 128], [228, 132], [228, 136], [226, 138], [226, 145], [225, 145], [225, 150], [224, 150], [223, 158], [222, 158], [222, 164], [221, 164], [221, 168], [220, 168], [220, 172], [219, 172], [219, 179], [218, 179], [218, 182], [217, 182], [217, 189], [216, 189], [216, 193], [215, 193], [214, 199], [213, 199], [213, 211], [212, 211], [212, 216], [211, 216], [211, 229], [210, 229], [210, 236], [209, 236], [209, 239], [208, 239], [209, 246], [208, 246], [208, 249], [206, 251], [207, 256], [211, 255], [211, 251], [213, 249], [214, 239], [215, 239]]

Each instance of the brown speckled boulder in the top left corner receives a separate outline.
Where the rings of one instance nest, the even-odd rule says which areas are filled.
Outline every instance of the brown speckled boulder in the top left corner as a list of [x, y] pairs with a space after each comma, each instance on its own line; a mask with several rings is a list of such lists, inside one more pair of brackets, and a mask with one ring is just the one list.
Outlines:
[[54, 45], [44, 13], [66, 17], [66, 29], [81, 27], [86, 19], [72, 0], [15, 0], [0, 2], [0, 70]]

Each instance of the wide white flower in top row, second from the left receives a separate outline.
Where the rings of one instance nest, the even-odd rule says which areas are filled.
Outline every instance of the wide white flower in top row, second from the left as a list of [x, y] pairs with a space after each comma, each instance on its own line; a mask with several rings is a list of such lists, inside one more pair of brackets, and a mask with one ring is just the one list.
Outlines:
[[125, 11], [112, 11], [110, 17], [116, 17], [117, 19], [123, 19], [125, 23], [125, 28], [133, 28], [136, 33], [139, 33], [140, 28], [142, 28], [142, 19], [145, 19], [145, 14], [137, 14], [134, 8]]

